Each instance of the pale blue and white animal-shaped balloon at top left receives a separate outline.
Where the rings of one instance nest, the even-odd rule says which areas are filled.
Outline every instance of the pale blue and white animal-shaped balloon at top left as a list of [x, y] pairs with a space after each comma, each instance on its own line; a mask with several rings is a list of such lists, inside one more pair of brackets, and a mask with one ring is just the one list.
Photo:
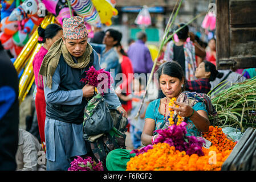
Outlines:
[[22, 20], [38, 13], [38, 0], [26, 0], [13, 10], [10, 20]]

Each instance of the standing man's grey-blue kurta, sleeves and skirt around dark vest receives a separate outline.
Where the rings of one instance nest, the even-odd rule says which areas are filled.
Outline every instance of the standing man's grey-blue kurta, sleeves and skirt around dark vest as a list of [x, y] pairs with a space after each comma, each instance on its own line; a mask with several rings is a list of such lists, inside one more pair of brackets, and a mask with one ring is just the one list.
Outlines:
[[[94, 51], [94, 67], [100, 69], [99, 58]], [[52, 88], [44, 87], [46, 102], [59, 105], [80, 105], [83, 99], [82, 89], [59, 90], [60, 66], [52, 76]], [[104, 94], [105, 101], [113, 107], [121, 106], [119, 98], [111, 88], [111, 92]], [[47, 107], [46, 107], [47, 110]], [[46, 117], [46, 159], [47, 170], [67, 170], [70, 167], [68, 159], [87, 154], [86, 142], [83, 140], [83, 123], [74, 124], [62, 122], [58, 119]]]

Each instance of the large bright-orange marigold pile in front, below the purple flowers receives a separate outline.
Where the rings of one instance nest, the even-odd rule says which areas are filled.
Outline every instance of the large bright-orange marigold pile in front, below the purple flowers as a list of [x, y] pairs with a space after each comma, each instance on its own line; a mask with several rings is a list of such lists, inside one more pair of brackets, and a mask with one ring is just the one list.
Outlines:
[[157, 143], [127, 163], [127, 171], [220, 171], [231, 150], [218, 151], [215, 146], [202, 148], [204, 156], [187, 155], [168, 143]]

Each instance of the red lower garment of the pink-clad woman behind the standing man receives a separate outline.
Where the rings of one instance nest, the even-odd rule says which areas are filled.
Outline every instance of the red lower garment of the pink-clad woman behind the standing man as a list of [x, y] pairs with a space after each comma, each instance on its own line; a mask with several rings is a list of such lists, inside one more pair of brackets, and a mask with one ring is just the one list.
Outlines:
[[37, 115], [37, 119], [38, 119], [38, 128], [39, 128], [41, 142], [45, 143], [44, 122], [46, 119], [46, 100], [44, 98], [43, 89], [37, 88], [37, 92], [35, 95], [35, 109], [36, 109], [36, 115]]

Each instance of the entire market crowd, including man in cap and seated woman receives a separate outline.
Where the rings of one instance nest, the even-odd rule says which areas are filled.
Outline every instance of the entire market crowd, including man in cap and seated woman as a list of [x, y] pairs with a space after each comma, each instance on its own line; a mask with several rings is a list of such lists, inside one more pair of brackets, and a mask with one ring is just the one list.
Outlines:
[[[184, 24], [176, 28], [181, 26]], [[103, 97], [128, 118], [133, 148], [152, 144], [158, 137], [154, 131], [168, 126], [166, 108], [173, 97], [180, 107], [172, 109], [185, 118], [188, 135], [200, 136], [208, 131], [208, 115], [216, 114], [207, 96], [210, 90], [224, 80], [241, 82], [256, 75], [255, 68], [217, 71], [216, 40], [210, 39], [205, 48], [185, 26], [177, 32], [178, 42], [170, 40], [156, 60], [154, 73], [158, 80], [153, 83], [158, 83], [155, 87], [159, 93], [152, 99], [145, 89], [155, 60], [147, 47], [145, 32], [138, 32], [136, 40], [129, 39], [125, 50], [120, 31], [95, 27], [95, 36], [89, 40], [83, 19], [74, 16], [64, 19], [62, 27], [58, 24], [39, 27], [38, 35], [43, 46], [32, 65], [39, 139], [18, 129], [18, 76], [0, 47], [0, 74], [5, 78], [0, 81], [0, 147], [5, 148], [0, 151], [0, 170], [66, 171], [75, 156], [93, 155], [90, 144], [83, 140], [82, 125], [84, 108], [94, 96], [95, 88], [80, 81], [91, 66], [111, 72], [114, 78], [111, 92]], [[46, 164], [39, 165], [38, 152], [43, 150]], [[105, 165], [108, 170], [123, 170], [131, 157], [128, 150], [116, 149], [107, 155]]]

